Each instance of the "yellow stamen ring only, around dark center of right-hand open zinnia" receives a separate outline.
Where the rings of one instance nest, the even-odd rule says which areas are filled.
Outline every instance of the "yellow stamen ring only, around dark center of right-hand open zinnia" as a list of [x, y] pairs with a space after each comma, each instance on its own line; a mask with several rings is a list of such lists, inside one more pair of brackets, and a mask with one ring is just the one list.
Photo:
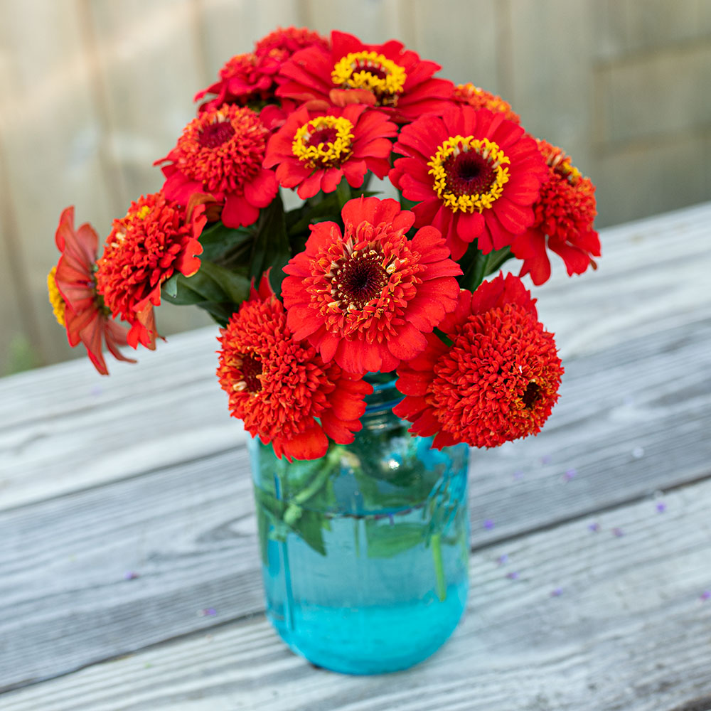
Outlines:
[[[469, 151], [474, 151], [485, 159], [493, 169], [495, 177], [486, 193], [458, 195], [449, 189], [444, 163], [450, 156], [456, 157]], [[503, 186], [508, 183], [508, 168], [504, 168], [503, 165], [510, 165], [510, 163], [508, 156], [489, 139], [475, 139], [474, 136], [452, 136], [439, 146], [437, 153], [429, 160], [427, 165], [430, 170], [427, 172], [434, 176], [434, 190], [448, 208], [454, 212], [461, 210], [463, 213], [473, 213], [474, 210], [479, 210], [482, 213], [485, 209], [491, 208], [493, 203], [501, 197]]]

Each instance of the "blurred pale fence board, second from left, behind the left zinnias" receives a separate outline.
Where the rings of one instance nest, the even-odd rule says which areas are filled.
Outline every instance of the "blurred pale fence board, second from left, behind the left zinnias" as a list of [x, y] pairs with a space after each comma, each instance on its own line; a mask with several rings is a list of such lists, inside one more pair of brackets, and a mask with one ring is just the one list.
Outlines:
[[[168, 153], [195, 115], [193, 95], [204, 80], [193, 2], [85, 0], [81, 6], [87, 58], [96, 68], [95, 102], [111, 159], [109, 186], [120, 196], [114, 217], [121, 217], [132, 200], [161, 188], [164, 176], [154, 161]], [[200, 309], [171, 304], [157, 316], [160, 333], [211, 322]]]

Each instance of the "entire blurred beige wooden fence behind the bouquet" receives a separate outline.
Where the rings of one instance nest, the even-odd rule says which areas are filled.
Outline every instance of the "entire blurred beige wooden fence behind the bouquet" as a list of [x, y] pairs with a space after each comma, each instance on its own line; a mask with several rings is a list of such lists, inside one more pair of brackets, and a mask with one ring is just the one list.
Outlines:
[[[70, 355], [46, 302], [60, 210], [102, 238], [277, 26], [400, 38], [513, 103], [598, 186], [599, 225], [711, 198], [711, 0], [0, 0], [0, 373]], [[604, 262], [603, 262], [604, 264]], [[205, 323], [164, 309], [161, 330]], [[78, 353], [77, 353], [78, 354]]]

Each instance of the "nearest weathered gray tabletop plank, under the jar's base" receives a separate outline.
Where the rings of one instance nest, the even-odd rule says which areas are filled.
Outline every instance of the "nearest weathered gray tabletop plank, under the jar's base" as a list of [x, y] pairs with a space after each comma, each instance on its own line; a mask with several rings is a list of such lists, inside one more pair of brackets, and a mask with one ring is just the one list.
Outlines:
[[643, 501], [474, 553], [463, 624], [407, 672], [314, 670], [258, 616], [9, 693], [3, 708], [672, 711], [705, 699], [693, 708], [707, 709], [709, 501], [706, 481], [665, 497], [663, 513]]

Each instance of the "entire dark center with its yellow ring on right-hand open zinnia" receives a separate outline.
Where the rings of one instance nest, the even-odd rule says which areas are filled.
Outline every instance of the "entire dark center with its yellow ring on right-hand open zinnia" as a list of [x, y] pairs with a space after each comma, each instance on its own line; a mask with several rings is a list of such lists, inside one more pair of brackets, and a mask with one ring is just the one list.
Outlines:
[[508, 156], [489, 139], [452, 136], [427, 165], [437, 197], [454, 212], [473, 213], [491, 208], [508, 183]]

